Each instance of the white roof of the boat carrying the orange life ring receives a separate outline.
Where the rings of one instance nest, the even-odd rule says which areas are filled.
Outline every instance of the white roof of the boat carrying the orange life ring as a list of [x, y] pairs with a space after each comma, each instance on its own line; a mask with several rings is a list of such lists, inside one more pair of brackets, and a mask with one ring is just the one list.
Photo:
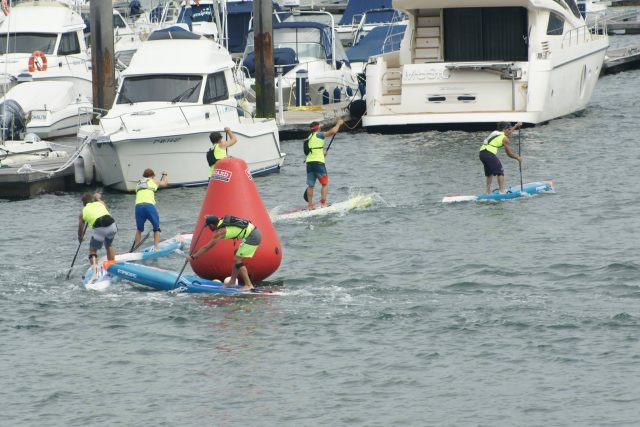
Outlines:
[[82, 17], [67, 6], [54, 2], [29, 2], [13, 6], [0, 24], [0, 33], [68, 33], [85, 27]]

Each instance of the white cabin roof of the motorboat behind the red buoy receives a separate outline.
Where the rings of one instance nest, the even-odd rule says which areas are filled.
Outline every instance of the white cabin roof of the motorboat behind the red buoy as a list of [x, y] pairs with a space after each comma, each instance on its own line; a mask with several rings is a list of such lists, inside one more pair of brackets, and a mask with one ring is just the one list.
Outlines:
[[205, 37], [148, 40], [133, 54], [121, 75], [209, 74], [233, 66], [229, 51]]

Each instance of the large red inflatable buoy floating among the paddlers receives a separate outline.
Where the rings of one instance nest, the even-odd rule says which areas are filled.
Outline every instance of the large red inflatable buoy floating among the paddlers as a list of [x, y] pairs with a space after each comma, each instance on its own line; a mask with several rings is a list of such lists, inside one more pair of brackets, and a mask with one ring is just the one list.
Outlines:
[[[207, 187], [191, 241], [191, 253], [211, 240], [212, 231], [204, 227], [205, 217], [216, 215], [222, 218], [233, 215], [251, 221], [262, 234], [258, 250], [245, 261], [249, 277], [259, 282], [273, 274], [282, 261], [282, 247], [276, 230], [271, 223], [269, 212], [262, 203], [258, 189], [253, 182], [249, 167], [242, 159], [226, 158], [218, 160]], [[200, 232], [202, 231], [202, 235]], [[200, 238], [198, 239], [198, 235]], [[238, 240], [220, 240], [208, 252], [191, 263], [191, 268], [205, 279], [224, 280], [231, 275], [233, 254], [240, 246]]]

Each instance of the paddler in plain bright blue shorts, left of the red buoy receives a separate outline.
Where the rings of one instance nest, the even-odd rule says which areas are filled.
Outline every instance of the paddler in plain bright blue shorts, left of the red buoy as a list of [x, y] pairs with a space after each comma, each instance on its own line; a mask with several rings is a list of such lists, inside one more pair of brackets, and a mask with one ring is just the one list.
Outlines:
[[144, 224], [147, 220], [153, 227], [153, 248], [158, 250], [160, 242], [160, 215], [156, 208], [156, 191], [158, 188], [169, 185], [169, 177], [166, 172], [162, 172], [160, 179], [155, 179], [156, 174], [153, 169], [145, 169], [142, 179], [136, 184], [136, 237], [133, 240], [133, 247], [140, 244]]

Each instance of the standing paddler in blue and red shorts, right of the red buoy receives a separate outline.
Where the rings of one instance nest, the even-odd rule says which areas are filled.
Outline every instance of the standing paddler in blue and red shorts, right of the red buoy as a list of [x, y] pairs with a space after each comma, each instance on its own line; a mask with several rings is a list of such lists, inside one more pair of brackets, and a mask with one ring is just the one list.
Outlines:
[[[329, 191], [329, 175], [325, 165], [325, 157], [327, 150], [324, 148], [324, 140], [328, 136], [333, 136], [340, 130], [340, 126], [344, 120], [338, 119], [334, 127], [325, 132], [320, 132], [320, 123], [312, 122], [309, 126], [311, 134], [305, 141], [305, 154], [307, 163], [307, 207], [313, 209], [313, 187], [316, 185], [316, 179], [322, 185], [320, 190], [320, 206], [327, 207], [327, 192]], [[307, 153], [308, 151], [308, 153]]]

